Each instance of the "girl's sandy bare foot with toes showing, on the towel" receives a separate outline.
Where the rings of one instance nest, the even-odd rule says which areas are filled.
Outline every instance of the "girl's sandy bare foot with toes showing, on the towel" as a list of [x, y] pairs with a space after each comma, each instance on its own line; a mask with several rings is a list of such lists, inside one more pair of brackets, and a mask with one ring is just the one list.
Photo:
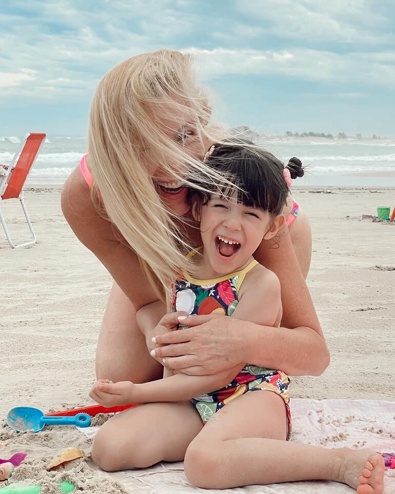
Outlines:
[[384, 459], [372, 449], [342, 448], [339, 480], [357, 490], [358, 494], [382, 494], [384, 490]]

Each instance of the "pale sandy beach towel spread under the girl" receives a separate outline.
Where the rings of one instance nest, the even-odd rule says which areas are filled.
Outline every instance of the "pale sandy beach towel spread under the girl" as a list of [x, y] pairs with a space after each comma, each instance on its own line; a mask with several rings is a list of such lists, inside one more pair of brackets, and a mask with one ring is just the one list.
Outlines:
[[[327, 447], [368, 447], [381, 453], [395, 449], [395, 403], [379, 400], [292, 399], [292, 441]], [[81, 429], [93, 437], [97, 427]], [[329, 481], [250, 485], [206, 490], [193, 487], [183, 463], [158, 463], [150, 468], [115, 473], [100, 472], [120, 483], [130, 494], [351, 494], [347, 485]], [[395, 470], [387, 469], [384, 494], [395, 494]]]

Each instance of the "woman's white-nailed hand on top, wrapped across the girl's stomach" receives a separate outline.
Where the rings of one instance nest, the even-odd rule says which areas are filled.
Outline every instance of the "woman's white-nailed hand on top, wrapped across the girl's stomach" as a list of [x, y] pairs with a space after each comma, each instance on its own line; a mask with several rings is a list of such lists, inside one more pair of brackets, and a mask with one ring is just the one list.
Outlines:
[[[174, 314], [168, 314], [171, 315]], [[246, 362], [243, 321], [227, 315], [209, 314], [194, 315], [179, 322], [189, 329], [155, 336], [155, 358], [163, 359], [163, 364], [169, 369], [190, 376], [203, 376]]]

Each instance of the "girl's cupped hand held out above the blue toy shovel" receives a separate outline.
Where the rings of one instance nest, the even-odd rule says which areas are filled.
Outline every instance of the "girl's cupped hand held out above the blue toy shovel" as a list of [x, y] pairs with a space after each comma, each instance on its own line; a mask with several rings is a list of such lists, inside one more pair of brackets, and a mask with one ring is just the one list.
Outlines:
[[130, 381], [112, 383], [108, 379], [98, 379], [92, 386], [89, 396], [106, 408], [134, 403], [136, 384]]

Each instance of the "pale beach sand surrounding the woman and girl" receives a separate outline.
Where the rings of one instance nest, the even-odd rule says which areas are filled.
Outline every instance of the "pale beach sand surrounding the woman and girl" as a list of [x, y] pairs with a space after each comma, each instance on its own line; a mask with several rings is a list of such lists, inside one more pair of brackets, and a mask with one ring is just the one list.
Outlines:
[[[307, 282], [331, 364], [323, 376], [294, 378], [291, 396], [393, 402], [395, 225], [362, 220], [362, 214], [377, 214], [377, 206], [392, 209], [395, 190], [296, 188], [293, 195], [311, 219]], [[15, 406], [46, 412], [92, 404], [87, 393], [95, 379], [98, 328], [111, 286], [105, 268], [63, 219], [59, 189], [29, 189], [25, 202], [37, 244], [12, 250], [0, 229], [0, 457], [27, 452], [14, 480], [46, 482], [46, 492], [56, 492], [62, 480], [88, 493], [126, 492], [93, 469], [91, 440], [75, 428], [48, 427], [18, 436], [5, 426], [3, 419]], [[26, 238], [19, 204], [7, 201], [1, 207], [15, 240]], [[45, 473], [57, 450], [68, 446], [82, 449], [87, 461]]]

